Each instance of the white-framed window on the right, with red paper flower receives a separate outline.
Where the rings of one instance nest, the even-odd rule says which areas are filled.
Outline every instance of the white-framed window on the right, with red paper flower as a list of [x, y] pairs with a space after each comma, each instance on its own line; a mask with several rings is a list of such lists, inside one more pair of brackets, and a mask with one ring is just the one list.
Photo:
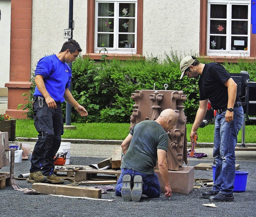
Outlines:
[[250, 56], [250, 0], [208, 0], [207, 55]]

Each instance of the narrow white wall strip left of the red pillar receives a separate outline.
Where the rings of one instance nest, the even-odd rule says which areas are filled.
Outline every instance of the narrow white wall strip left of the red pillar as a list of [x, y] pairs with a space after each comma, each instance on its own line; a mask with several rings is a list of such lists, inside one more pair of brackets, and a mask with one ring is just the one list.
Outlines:
[[[4, 84], [10, 79], [10, 30], [11, 30], [11, 1], [0, 0], [0, 89], [7, 93]], [[3, 96], [0, 93], [0, 96]]]

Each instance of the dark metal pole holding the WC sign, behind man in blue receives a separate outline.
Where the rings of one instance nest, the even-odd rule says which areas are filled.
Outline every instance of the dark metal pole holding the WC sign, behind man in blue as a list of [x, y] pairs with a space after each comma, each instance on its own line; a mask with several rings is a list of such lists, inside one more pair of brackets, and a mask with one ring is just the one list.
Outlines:
[[[70, 39], [72, 39], [73, 38], [73, 0], [69, 0], [68, 28], [71, 29]], [[72, 62], [70, 62], [68, 66], [72, 70]], [[72, 78], [71, 78], [70, 86], [68, 90], [70, 92], [72, 91]], [[66, 102], [66, 125], [71, 125], [71, 105], [68, 102]]]

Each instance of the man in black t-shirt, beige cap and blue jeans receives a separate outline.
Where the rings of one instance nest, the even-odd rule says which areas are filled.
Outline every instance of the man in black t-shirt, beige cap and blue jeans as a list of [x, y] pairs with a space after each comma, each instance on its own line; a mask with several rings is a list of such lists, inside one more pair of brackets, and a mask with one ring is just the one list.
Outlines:
[[210, 201], [234, 201], [235, 146], [244, 121], [242, 103], [236, 93], [237, 84], [220, 64], [202, 64], [193, 56], [181, 60], [180, 71], [180, 79], [184, 76], [199, 78], [200, 103], [190, 133], [191, 143], [204, 119], [208, 101], [217, 111], [213, 149], [215, 181], [212, 191], [202, 192], [201, 195]]

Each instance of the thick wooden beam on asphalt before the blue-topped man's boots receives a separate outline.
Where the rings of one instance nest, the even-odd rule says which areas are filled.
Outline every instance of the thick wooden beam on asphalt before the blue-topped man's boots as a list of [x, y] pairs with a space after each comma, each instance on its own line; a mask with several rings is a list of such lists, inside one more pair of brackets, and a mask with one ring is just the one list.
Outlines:
[[36, 191], [39, 191], [42, 194], [101, 198], [101, 189], [96, 189], [96, 188], [53, 185], [53, 184], [47, 184], [47, 183], [33, 183], [32, 189], [35, 189]]

